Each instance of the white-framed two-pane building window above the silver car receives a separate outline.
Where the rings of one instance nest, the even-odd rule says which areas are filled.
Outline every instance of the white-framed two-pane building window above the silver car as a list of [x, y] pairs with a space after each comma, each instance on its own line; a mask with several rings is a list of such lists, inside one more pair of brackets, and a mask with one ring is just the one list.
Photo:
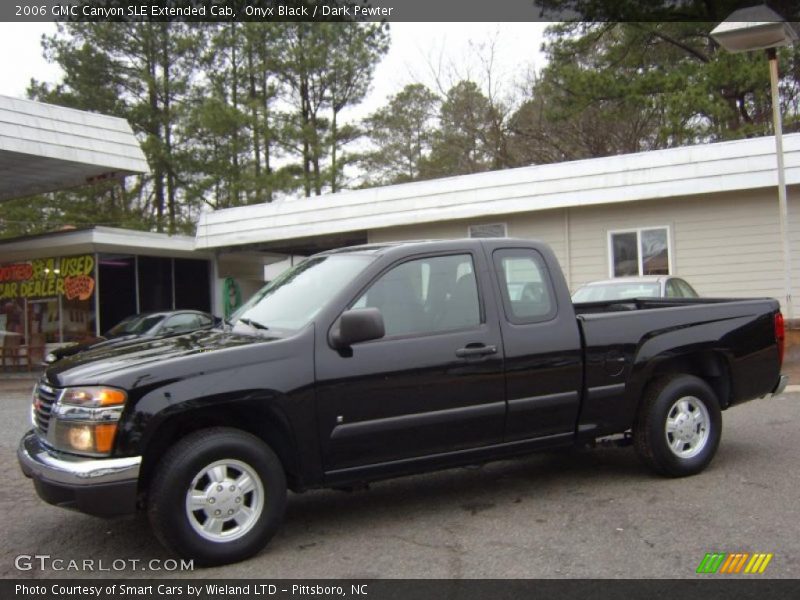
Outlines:
[[669, 275], [672, 255], [669, 227], [608, 233], [611, 277]]

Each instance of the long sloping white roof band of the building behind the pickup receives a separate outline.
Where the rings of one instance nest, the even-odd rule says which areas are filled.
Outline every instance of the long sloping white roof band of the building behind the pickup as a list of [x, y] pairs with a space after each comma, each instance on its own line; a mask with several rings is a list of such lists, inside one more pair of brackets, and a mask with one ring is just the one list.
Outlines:
[[[800, 183], [800, 134], [784, 136]], [[774, 137], [462, 175], [203, 213], [198, 248], [777, 185]]]

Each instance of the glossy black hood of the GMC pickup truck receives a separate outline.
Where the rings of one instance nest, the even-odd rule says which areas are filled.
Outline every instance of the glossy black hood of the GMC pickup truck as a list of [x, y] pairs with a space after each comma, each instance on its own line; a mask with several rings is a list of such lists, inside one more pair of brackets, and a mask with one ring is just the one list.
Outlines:
[[104, 344], [61, 359], [45, 371], [44, 377], [57, 387], [102, 384], [132, 389], [169, 377], [261, 360], [260, 353], [248, 349], [286, 341], [212, 329], [120, 345]]

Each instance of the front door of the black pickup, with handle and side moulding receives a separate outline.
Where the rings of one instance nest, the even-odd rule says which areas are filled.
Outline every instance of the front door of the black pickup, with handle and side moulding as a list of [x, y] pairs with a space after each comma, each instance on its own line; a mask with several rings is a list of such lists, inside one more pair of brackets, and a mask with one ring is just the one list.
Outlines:
[[[454, 252], [472, 257], [480, 290], [478, 325], [393, 335], [393, 313], [384, 309], [386, 337], [353, 344], [345, 352], [333, 349], [328, 331], [320, 331], [316, 400], [326, 473], [369, 465], [386, 465], [379, 468], [385, 472], [395, 461], [501, 441], [506, 413], [503, 348], [493, 299], [484, 292], [490, 274], [482, 252], [469, 246], [451, 249], [449, 255]], [[384, 274], [418, 258], [435, 260], [437, 255], [382, 262], [364, 289], [373, 289]], [[431, 280], [428, 298], [439, 283]], [[394, 293], [401, 295], [401, 290]], [[353, 293], [348, 306], [362, 294]], [[441, 319], [451, 316], [457, 315], [444, 313]]]

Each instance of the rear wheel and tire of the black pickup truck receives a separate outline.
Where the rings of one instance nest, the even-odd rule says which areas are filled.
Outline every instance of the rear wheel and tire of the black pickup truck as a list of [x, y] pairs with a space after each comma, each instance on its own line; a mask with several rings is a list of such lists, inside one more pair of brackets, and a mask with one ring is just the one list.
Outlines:
[[648, 386], [633, 430], [633, 445], [650, 469], [686, 477], [705, 469], [722, 435], [714, 390], [694, 375], [673, 375]]

